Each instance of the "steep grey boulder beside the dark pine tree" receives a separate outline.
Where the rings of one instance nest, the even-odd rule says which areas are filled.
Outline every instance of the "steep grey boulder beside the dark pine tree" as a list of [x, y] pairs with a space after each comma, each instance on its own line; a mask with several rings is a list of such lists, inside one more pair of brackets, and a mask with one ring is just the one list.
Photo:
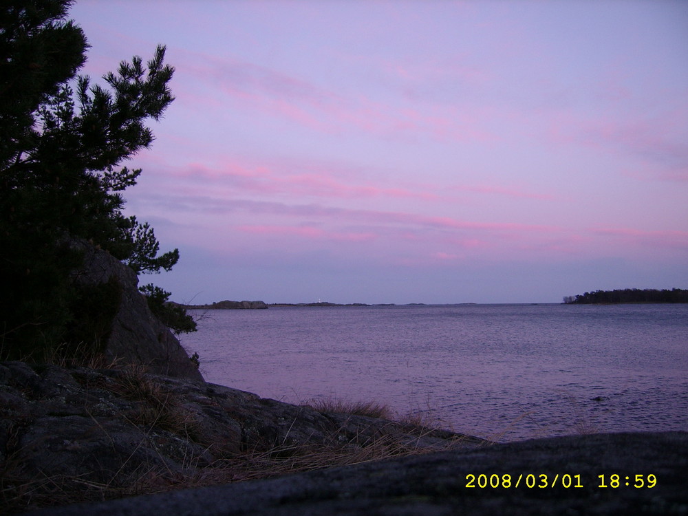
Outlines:
[[83, 268], [74, 272], [77, 284], [114, 282], [121, 292], [116, 314], [106, 332], [105, 357], [121, 364], [144, 365], [155, 374], [203, 380], [178, 339], [149, 309], [138, 290], [136, 272], [87, 242], [73, 245], [85, 255]]

